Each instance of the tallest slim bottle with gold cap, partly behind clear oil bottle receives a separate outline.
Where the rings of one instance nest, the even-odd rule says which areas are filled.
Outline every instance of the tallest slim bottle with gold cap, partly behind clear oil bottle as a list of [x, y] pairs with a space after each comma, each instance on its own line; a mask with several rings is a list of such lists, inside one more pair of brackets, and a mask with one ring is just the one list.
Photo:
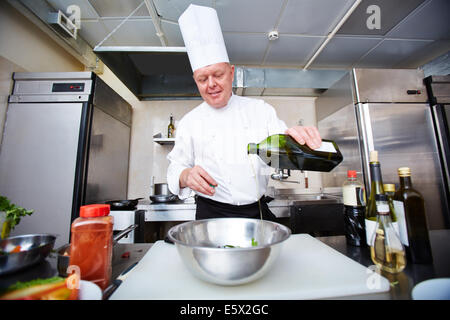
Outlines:
[[366, 207], [366, 217], [365, 217], [365, 228], [366, 228], [366, 239], [367, 245], [371, 246], [370, 241], [372, 240], [372, 235], [375, 232], [375, 226], [377, 221], [377, 205], [375, 196], [377, 194], [384, 194], [383, 179], [381, 177], [381, 167], [378, 161], [378, 152], [370, 152], [370, 178], [372, 182], [370, 184], [370, 195], [367, 200]]

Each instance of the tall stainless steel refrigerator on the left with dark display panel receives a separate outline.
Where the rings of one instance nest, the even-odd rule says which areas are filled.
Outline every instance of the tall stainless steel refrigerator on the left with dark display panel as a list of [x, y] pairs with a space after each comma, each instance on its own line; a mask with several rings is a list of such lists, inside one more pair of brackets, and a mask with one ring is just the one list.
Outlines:
[[12, 235], [70, 241], [84, 204], [126, 199], [131, 106], [92, 72], [15, 73], [0, 194], [26, 209]]

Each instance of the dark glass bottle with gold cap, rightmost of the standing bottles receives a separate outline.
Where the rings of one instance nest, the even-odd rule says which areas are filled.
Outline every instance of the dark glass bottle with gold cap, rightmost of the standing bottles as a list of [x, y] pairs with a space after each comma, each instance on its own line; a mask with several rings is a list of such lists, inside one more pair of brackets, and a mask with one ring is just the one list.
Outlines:
[[406, 247], [406, 256], [412, 263], [433, 262], [425, 203], [411, 181], [411, 170], [398, 168], [400, 188], [394, 196], [394, 208], [399, 223], [400, 239]]

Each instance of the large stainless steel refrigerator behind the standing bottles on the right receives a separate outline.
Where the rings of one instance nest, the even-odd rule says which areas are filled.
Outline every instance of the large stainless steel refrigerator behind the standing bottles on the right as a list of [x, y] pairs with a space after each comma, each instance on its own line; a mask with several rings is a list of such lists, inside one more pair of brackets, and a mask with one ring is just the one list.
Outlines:
[[357, 170], [370, 191], [369, 153], [379, 152], [383, 183], [397, 188], [407, 166], [425, 199], [429, 229], [450, 226], [440, 134], [419, 69], [352, 69], [316, 100], [318, 128], [339, 145], [344, 161], [322, 173], [324, 187], [340, 187]]

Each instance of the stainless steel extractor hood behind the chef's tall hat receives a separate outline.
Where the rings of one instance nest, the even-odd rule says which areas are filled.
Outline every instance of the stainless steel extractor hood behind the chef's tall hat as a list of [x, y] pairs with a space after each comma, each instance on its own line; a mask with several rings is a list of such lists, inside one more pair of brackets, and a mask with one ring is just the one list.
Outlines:
[[[98, 47], [94, 52], [140, 100], [199, 98], [184, 47]], [[319, 96], [345, 70], [236, 66], [234, 92], [244, 96]]]

